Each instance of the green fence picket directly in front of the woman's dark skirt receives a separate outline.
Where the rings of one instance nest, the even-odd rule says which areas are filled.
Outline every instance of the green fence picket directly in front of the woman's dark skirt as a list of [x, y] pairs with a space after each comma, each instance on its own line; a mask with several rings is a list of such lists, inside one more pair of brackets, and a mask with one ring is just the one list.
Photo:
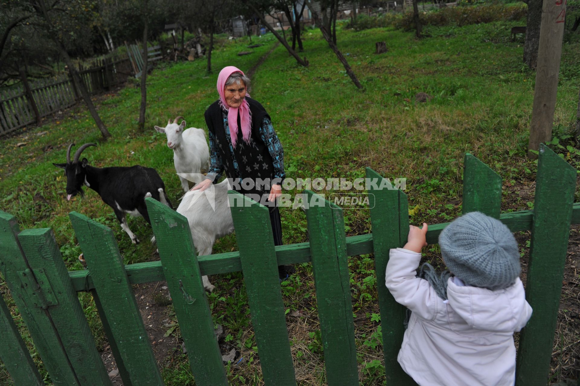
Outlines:
[[252, 326], [266, 385], [296, 385], [268, 208], [229, 192]]

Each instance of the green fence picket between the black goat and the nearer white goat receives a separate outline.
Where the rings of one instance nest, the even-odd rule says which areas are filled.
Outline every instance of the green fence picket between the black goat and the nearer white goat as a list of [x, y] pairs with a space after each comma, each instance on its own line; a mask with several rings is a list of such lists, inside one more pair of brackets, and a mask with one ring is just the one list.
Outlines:
[[157, 200], [145, 201], [195, 384], [227, 386], [189, 222]]

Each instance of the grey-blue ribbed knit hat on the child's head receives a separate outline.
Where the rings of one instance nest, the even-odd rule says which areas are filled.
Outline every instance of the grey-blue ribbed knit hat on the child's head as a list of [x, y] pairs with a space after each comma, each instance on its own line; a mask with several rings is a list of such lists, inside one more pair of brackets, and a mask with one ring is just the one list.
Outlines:
[[512, 232], [498, 219], [467, 213], [439, 235], [447, 268], [469, 286], [499, 290], [520, 276], [520, 254]]

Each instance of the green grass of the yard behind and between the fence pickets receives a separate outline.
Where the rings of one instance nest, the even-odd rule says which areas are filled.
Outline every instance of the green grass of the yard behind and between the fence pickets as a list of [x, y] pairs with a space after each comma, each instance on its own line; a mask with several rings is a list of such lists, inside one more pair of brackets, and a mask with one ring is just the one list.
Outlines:
[[[287, 176], [355, 179], [364, 176], [368, 166], [389, 178], [407, 178], [409, 208], [414, 208], [412, 223], [444, 222], [461, 212], [462, 160], [463, 154], [470, 152], [502, 176], [503, 211], [529, 208], [533, 193], [522, 192], [534, 181], [536, 171], [536, 164], [525, 158], [535, 73], [521, 63], [523, 40], [509, 41], [510, 28], [516, 25], [521, 25], [521, 21], [429, 26], [426, 32], [431, 37], [420, 40], [412, 33], [391, 28], [339, 30], [339, 48], [365, 92], [354, 87], [318, 31], [305, 33], [305, 52], [301, 56], [310, 62], [307, 68], [299, 67], [279, 46], [253, 76], [251, 95], [272, 117], [284, 145]], [[21, 229], [52, 228], [69, 269], [81, 269], [77, 261], [81, 251], [67, 216], [73, 210], [110, 226], [127, 264], [151, 259], [155, 247], [148, 241], [152, 232], [143, 219], [129, 220], [131, 229], [142, 240], [133, 246], [113, 211], [95, 192], [88, 190], [84, 199], [66, 201], [66, 179], [52, 163], [64, 161], [71, 141], [99, 142], [99, 147], [84, 153], [91, 164], [154, 167], [176, 203], [182, 192], [172, 153], [165, 145], [165, 136], [155, 132], [153, 126], [183, 116], [188, 127], [205, 128], [203, 113], [217, 98], [219, 69], [234, 64], [247, 71], [273, 46], [270, 35], [254, 40], [266, 44], [247, 56], [236, 55], [245, 50], [247, 41], [220, 40], [212, 55], [213, 74], [205, 73], [206, 63], [202, 60], [157, 68], [147, 81], [148, 109], [143, 133], [136, 130], [140, 91], [129, 85], [99, 103], [101, 117], [113, 135], [107, 142], [100, 142], [100, 133], [82, 106], [59, 121], [28, 129], [28, 138], [3, 140], [0, 208], [15, 215]], [[389, 52], [375, 55], [377, 41], [387, 42]], [[563, 46], [554, 116], [554, 134], [563, 148], [553, 145], [577, 169], [580, 158], [567, 135], [574, 125], [578, 103], [579, 55], [580, 43], [572, 37]], [[426, 103], [415, 102], [418, 92], [433, 98]], [[42, 131], [48, 133], [35, 135]], [[28, 145], [16, 147], [18, 142]], [[44, 151], [46, 145], [53, 149]], [[37, 194], [48, 204], [34, 200]], [[346, 208], [344, 212], [348, 235], [369, 232], [368, 210]], [[303, 212], [282, 208], [281, 213], [284, 243], [306, 241]], [[235, 236], [228, 236], [216, 242], [214, 252], [235, 247]], [[525, 245], [522, 247], [527, 251]], [[430, 248], [426, 257], [436, 260], [437, 248]], [[353, 311], [364, 322], [356, 326], [361, 382], [382, 384], [384, 369], [376, 362], [382, 358], [382, 349], [376, 344], [380, 329], [372, 257], [353, 257], [349, 265], [351, 291], [356, 299]], [[324, 384], [313, 274], [309, 264], [301, 264], [297, 270], [297, 275], [282, 283], [285, 306], [290, 315], [298, 315], [289, 319], [296, 372], [301, 374], [300, 384]], [[211, 277], [216, 290], [209, 295], [209, 302], [215, 322], [224, 326], [228, 339], [242, 349], [248, 363], [244, 369], [227, 367], [230, 381], [261, 384], [259, 367], [253, 365], [258, 356], [241, 277], [241, 273]], [[0, 288], [5, 290], [4, 283], [0, 283]], [[12, 300], [5, 298], [31, 347]], [[92, 300], [83, 294], [81, 301], [88, 309], [97, 344], [102, 345], [104, 335]], [[34, 349], [32, 354], [38, 358]], [[168, 384], [185, 385], [191, 380], [189, 371], [186, 357], [177, 355], [163, 374]], [[578, 369], [560, 371], [555, 376], [565, 379], [573, 371]], [[5, 374], [0, 367], [0, 378], [5, 378]]]

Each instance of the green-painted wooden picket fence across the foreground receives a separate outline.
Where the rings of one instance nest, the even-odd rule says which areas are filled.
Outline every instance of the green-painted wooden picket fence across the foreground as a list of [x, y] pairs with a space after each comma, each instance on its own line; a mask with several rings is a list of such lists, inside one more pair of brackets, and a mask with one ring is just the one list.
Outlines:
[[[517, 385], [546, 385], [556, 329], [574, 204], [576, 171], [543, 146], [539, 152], [533, 211], [500, 214], [501, 178], [465, 156], [463, 212], [482, 211], [512, 232], [531, 230], [526, 294], [534, 314], [520, 336]], [[368, 178], [382, 177], [367, 169]], [[318, 199], [305, 192], [310, 200]], [[77, 292], [90, 291], [125, 386], [163, 385], [131, 284], [166, 280], [196, 385], [227, 385], [201, 275], [243, 271], [252, 326], [266, 385], [296, 385], [278, 265], [311, 262], [328, 385], [358, 385], [357, 352], [349, 288], [349, 256], [374, 254], [387, 384], [414, 385], [397, 364], [404, 308], [385, 282], [390, 248], [405, 244], [407, 196], [400, 190], [368, 191], [372, 234], [346, 237], [342, 209], [325, 202], [306, 209], [308, 243], [274, 247], [267, 208], [230, 194], [239, 252], [198, 257], [187, 219], [147, 199], [161, 261], [124, 265], [111, 229], [71, 212], [88, 270], [68, 272], [50, 229], [20, 232], [0, 212], [0, 272], [55, 385], [110, 385]], [[429, 226], [436, 243], [448, 223]], [[256, 232], [256, 230], [259, 232]], [[0, 299], [0, 358], [18, 386], [42, 385], [6, 304]]]

